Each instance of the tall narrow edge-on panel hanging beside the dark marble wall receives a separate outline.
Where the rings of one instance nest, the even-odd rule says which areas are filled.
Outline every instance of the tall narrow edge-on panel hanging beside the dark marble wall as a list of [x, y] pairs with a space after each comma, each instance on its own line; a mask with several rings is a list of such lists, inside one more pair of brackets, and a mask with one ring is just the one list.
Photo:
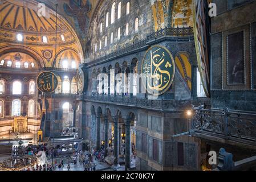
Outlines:
[[198, 70], [201, 75], [202, 86], [204, 87], [206, 96], [210, 94], [210, 74], [209, 74], [209, 24], [208, 11], [203, 0], [194, 1], [193, 19], [194, 19], [194, 41], [197, 52]]

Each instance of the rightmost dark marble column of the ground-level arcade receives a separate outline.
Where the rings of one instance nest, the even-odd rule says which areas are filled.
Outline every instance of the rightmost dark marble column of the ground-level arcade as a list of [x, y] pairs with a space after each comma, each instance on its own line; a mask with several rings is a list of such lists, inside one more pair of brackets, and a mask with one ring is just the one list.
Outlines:
[[131, 167], [131, 121], [125, 122], [125, 171]]

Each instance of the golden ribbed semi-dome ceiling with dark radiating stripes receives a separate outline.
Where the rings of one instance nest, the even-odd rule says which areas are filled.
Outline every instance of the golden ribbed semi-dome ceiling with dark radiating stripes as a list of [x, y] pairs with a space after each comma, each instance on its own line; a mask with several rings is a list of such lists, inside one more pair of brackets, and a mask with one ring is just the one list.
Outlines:
[[[46, 17], [38, 15], [37, 7], [26, 6], [20, 1], [4, 1], [0, 5], [0, 25], [4, 30], [21, 32], [32, 32], [39, 34], [55, 34], [56, 18], [49, 13]], [[68, 31], [62, 21], [57, 18], [57, 31], [64, 33]]]

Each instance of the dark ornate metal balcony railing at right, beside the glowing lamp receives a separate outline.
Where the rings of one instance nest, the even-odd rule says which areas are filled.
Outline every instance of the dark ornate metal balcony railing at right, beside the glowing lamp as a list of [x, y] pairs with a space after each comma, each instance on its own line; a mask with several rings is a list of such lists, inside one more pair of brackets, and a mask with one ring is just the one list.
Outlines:
[[[192, 130], [222, 138], [256, 142], [256, 113], [239, 110], [193, 107]], [[256, 145], [256, 143], [255, 143]]]

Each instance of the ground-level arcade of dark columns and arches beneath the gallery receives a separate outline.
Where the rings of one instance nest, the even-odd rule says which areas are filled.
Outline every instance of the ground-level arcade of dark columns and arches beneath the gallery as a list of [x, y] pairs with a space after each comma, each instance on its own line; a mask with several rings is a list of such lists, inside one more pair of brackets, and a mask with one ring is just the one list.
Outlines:
[[[104, 111], [100, 106], [91, 106], [91, 141], [100, 150], [104, 144], [104, 156], [115, 156], [114, 164], [119, 163], [119, 155], [125, 156], [125, 169], [131, 167], [131, 156], [136, 150], [136, 115], [133, 111], [127, 114], [121, 110]], [[113, 154], [109, 154], [109, 148]]]

